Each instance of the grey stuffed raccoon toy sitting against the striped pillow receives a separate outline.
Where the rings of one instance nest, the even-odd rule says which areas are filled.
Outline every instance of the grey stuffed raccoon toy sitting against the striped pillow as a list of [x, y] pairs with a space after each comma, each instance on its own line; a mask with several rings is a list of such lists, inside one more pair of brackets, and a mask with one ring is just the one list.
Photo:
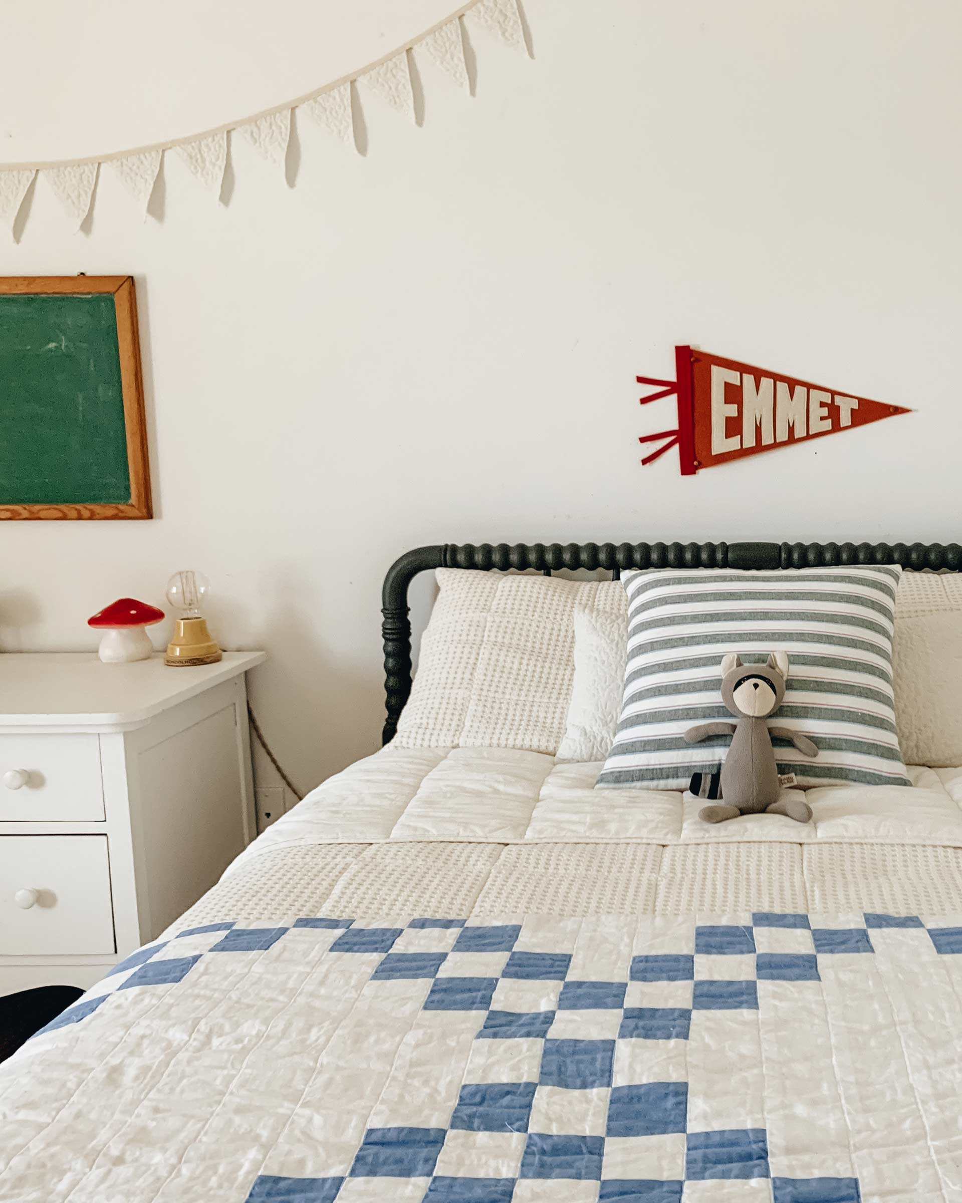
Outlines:
[[790, 740], [802, 755], [815, 757], [819, 749], [807, 735], [791, 731], [788, 727], [768, 727], [765, 722], [782, 705], [788, 675], [789, 658], [785, 652], [772, 652], [765, 665], [742, 664], [741, 658], [734, 654], [721, 660], [721, 700], [738, 722], [702, 723], [684, 733], [688, 743], [699, 743], [709, 735], [731, 735], [720, 774], [706, 778], [696, 772], [691, 777], [690, 788], [696, 798], [717, 798], [724, 802], [699, 811], [699, 818], [706, 823], [721, 823], [761, 811], [786, 814], [798, 823], [812, 818], [808, 802], [782, 798], [772, 736]]

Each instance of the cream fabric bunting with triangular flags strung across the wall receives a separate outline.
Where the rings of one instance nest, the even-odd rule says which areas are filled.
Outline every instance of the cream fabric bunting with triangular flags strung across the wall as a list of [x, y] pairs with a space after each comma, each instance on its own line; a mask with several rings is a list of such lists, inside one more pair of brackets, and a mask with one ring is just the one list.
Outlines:
[[[354, 95], [374, 95], [409, 120], [417, 120], [411, 54], [423, 51], [430, 61], [461, 88], [470, 88], [462, 30], [462, 22], [465, 18], [507, 46], [527, 49], [518, 0], [470, 0], [444, 20], [403, 46], [396, 47], [376, 61], [326, 83], [307, 95], [218, 129], [88, 159], [2, 164], [0, 165], [0, 223], [10, 229], [13, 227], [36, 177], [53, 190], [75, 229], [79, 229], [90, 213], [97, 173], [102, 164], [111, 166], [138, 211], [146, 217], [167, 150], [176, 150], [201, 185], [214, 197], [219, 197], [227, 162], [227, 137], [238, 132], [268, 164], [283, 170], [293, 112], [305, 113], [338, 141], [357, 149]], [[356, 93], [355, 85], [357, 85]]]

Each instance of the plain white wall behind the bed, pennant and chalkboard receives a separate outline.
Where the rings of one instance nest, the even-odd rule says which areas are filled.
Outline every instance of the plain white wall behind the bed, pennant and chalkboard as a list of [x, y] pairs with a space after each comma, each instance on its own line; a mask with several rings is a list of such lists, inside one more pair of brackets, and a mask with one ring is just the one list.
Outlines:
[[[263, 61], [256, 23], [232, 25], [254, 91], [319, 82], [304, 46], [339, 11], [287, 5]], [[146, 224], [107, 172], [79, 236], [36, 189], [0, 271], [137, 278], [158, 517], [6, 523], [0, 646], [93, 647], [94, 610], [200, 567], [224, 644], [269, 652], [254, 703], [308, 787], [378, 743], [379, 589], [408, 547], [958, 537], [962, 8], [525, 12], [535, 60], [476, 36], [476, 99], [422, 67], [423, 129], [370, 102], [362, 158], [302, 123], [293, 188], [238, 140], [226, 207], [173, 156]], [[46, 29], [63, 59], [70, 25]], [[194, 40], [219, 61], [215, 30]], [[152, 55], [176, 38], [129, 41], [108, 51], [162, 87]], [[25, 91], [0, 97], [8, 159], [31, 156], [28, 76], [49, 79], [31, 53]], [[672, 457], [642, 469], [636, 437], [671, 402], [640, 410], [634, 378], [669, 373], [675, 342], [918, 414], [694, 479]]]

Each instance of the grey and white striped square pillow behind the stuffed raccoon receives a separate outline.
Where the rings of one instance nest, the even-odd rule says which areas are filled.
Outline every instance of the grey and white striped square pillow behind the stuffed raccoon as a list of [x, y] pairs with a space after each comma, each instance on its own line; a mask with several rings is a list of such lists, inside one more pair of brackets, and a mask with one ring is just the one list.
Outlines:
[[618, 734], [599, 786], [687, 789], [713, 772], [730, 736], [696, 745], [689, 727], [734, 721], [721, 701], [721, 657], [746, 664], [789, 654], [773, 722], [809, 735], [816, 759], [774, 740], [778, 771], [802, 789], [857, 782], [908, 786], [892, 699], [895, 592], [902, 569], [625, 573], [628, 664]]

